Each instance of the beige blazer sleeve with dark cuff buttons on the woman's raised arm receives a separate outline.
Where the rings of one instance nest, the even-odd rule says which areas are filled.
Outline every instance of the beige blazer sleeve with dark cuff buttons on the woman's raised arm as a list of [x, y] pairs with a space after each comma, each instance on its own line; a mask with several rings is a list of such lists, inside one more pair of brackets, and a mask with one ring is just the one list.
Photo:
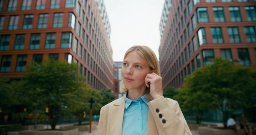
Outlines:
[[177, 101], [160, 96], [148, 106], [159, 135], [192, 135]]

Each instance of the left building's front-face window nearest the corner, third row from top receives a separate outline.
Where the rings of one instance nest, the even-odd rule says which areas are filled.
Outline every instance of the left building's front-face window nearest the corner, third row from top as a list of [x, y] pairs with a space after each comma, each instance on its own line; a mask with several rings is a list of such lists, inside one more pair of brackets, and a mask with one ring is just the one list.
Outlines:
[[60, 48], [72, 48], [72, 32], [62, 32]]

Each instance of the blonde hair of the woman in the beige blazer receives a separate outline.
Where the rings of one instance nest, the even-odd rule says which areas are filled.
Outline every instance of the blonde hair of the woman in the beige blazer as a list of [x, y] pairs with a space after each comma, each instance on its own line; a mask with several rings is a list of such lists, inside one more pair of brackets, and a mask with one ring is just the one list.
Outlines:
[[[142, 46], [142, 45], [132, 46], [125, 52], [124, 59], [126, 58], [127, 54], [131, 51], [136, 51], [138, 55], [140, 55], [141, 58], [143, 58], [147, 62], [151, 70], [155, 70], [155, 74], [158, 74], [159, 76], [161, 76], [158, 58], [151, 48], [149, 48], [148, 46]], [[146, 90], [148, 93], [148, 98], [152, 99], [152, 97], [149, 94], [150, 93], [149, 88], [146, 87]], [[128, 92], [128, 89], [125, 87], [123, 80], [122, 80], [122, 91], [125, 93]]]

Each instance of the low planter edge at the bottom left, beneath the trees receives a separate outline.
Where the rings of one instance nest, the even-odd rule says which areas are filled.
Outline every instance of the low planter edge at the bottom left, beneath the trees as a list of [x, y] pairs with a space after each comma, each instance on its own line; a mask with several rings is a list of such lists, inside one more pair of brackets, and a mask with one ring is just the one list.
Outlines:
[[78, 129], [21, 131], [19, 135], [79, 135]]

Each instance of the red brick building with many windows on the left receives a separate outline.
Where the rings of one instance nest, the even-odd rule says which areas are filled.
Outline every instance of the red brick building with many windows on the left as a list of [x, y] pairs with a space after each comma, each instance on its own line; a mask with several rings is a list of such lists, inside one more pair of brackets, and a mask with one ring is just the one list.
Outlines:
[[53, 58], [111, 89], [110, 33], [103, 0], [0, 0], [0, 77], [20, 78], [33, 61]]

